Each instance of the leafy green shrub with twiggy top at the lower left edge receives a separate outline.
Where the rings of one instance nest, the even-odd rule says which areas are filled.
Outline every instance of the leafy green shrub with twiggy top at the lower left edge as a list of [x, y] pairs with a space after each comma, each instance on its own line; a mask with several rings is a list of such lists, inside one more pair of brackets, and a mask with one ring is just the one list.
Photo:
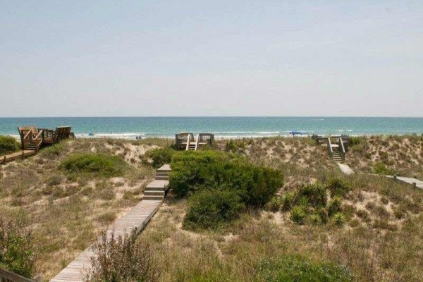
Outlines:
[[0, 267], [27, 278], [34, 274], [32, 232], [13, 221], [0, 217]]

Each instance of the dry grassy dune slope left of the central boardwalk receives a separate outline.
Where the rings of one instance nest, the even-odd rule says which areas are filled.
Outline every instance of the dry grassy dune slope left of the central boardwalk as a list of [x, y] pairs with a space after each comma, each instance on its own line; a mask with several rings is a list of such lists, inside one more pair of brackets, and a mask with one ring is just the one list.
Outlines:
[[[35, 275], [52, 278], [94, 242], [99, 231], [140, 202], [145, 185], [154, 178], [154, 168], [142, 164], [140, 156], [160, 144], [148, 142], [68, 140], [0, 166], [0, 214], [5, 222], [13, 219], [32, 229]], [[75, 155], [93, 154], [100, 161], [78, 157], [69, 170], [61, 168]], [[98, 166], [104, 159], [106, 166]], [[87, 165], [92, 163], [95, 166]]]

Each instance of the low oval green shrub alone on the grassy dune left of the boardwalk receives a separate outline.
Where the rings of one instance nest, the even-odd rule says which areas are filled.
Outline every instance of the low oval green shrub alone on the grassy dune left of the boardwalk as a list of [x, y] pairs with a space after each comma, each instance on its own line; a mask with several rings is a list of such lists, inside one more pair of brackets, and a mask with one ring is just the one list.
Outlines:
[[68, 173], [88, 173], [93, 176], [123, 176], [128, 164], [120, 157], [107, 154], [74, 154], [61, 162]]

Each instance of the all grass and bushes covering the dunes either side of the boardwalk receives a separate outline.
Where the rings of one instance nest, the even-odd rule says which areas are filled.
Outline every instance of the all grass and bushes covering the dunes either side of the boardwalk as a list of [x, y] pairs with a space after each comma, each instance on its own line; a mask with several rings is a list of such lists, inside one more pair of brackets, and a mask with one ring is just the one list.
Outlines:
[[[173, 189], [136, 240], [144, 251], [99, 242], [98, 251], [108, 251], [92, 280], [423, 280], [422, 190], [381, 176], [343, 176], [326, 147], [307, 137], [223, 140], [200, 152], [169, 145], [75, 140], [3, 166], [0, 214], [33, 227], [37, 274], [54, 276], [135, 205], [170, 153]], [[165, 149], [150, 155], [155, 160], [147, 157], [158, 147]], [[357, 137], [347, 164], [420, 177], [422, 148], [415, 136]], [[125, 168], [120, 176], [59, 168], [80, 154], [116, 156]], [[149, 273], [152, 264], [166, 271]]]

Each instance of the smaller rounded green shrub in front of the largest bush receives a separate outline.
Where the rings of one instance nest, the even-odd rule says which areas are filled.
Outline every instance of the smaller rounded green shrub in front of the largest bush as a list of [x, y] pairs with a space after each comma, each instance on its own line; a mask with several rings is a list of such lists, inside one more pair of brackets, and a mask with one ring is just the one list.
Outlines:
[[189, 199], [184, 228], [218, 228], [238, 218], [245, 206], [233, 190], [202, 190]]

